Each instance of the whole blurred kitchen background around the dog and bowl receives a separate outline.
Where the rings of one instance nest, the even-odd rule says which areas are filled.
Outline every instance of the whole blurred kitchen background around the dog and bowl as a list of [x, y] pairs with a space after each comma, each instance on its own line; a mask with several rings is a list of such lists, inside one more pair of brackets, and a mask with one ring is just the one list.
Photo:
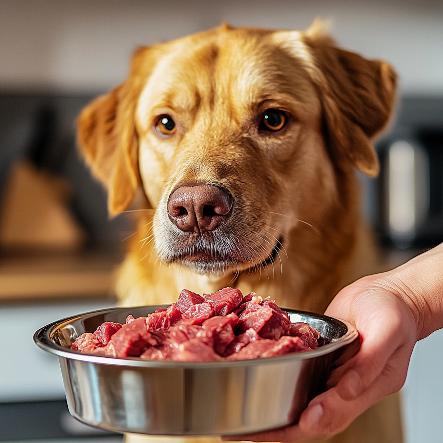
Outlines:
[[[121, 82], [137, 45], [232, 25], [303, 29], [391, 62], [396, 119], [377, 142], [363, 211], [387, 267], [443, 241], [441, 0], [0, 0], [0, 441], [120, 442], [67, 412], [56, 358], [32, 342], [53, 320], [116, 303], [132, 232], [78, 158], [74, 120]], [[443, 441], [443, 334], [417, 344], [403, 389], [405, 440]], [[356, 442], [358, 443], [358, 442]]]

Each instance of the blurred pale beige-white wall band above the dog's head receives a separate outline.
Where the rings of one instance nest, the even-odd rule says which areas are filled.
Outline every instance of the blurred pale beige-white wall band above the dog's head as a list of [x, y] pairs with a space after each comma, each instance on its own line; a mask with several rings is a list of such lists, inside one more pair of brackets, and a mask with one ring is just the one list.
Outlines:
[[403, 93], [443, 94], [438, 0], [0, 0], [0, 89], [108, 89], [136, 45], [222, 20], [300, 29], [315, 16], [331, 19], [342, 46], [392, 62]]

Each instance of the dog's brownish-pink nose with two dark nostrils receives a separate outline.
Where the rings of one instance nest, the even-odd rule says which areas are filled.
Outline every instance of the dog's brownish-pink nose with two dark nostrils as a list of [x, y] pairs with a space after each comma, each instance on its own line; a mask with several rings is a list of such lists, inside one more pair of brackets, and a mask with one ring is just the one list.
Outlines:
[[182, 231], [202, 233], [228, 218], [232, 205], [231, 194], [217, 186], [181, 186], [169, 196], [167, 212]]

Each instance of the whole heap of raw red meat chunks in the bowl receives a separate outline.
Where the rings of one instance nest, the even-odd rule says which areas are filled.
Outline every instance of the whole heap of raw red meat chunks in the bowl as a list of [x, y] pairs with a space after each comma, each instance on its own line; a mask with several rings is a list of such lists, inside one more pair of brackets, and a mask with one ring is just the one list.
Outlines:
[[75, 339], [72, 350], [146, 360], [224, 361], [315, 349], [319, 331], [291, 323], [274, 300], [224, 288], [203, 296], [184, 289], [177, 302], [148, 317], [105, 322]]

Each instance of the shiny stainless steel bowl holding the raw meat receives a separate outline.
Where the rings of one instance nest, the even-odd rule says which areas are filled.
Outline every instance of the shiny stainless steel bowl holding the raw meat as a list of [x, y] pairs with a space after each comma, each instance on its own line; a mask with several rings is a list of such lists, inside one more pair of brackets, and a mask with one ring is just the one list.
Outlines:
[[34, 334], [58, 355], [70, 413], [82, 422], [150, 435], [229, 435], [285, 426], [317, 394], [328, 374], [360, 348], [348, 323], [287, 309], [291, 322], [318, 329], [325, 344], [281, 357], [210, 363], [147, 361], [81, 354], [69, 349], [84, 332], [163, 306], [94, 311], [44, 326]]

